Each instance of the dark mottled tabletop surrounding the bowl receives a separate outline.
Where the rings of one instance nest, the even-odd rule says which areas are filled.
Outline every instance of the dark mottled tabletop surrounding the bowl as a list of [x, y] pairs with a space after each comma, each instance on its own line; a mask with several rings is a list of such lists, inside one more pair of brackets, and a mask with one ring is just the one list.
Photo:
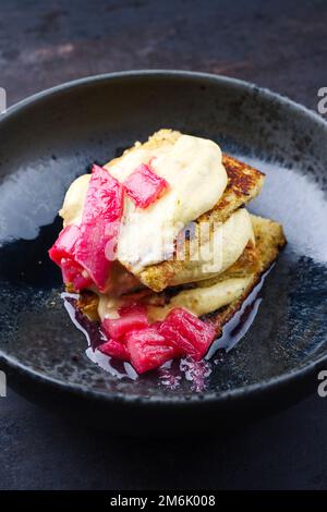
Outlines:
[[[327, 85], [324, 0], [2, 0], [0, 12], [10, 105], [80, 76], [144, 68], [227, 74], [313, 109]], [[111, 440], [9, 390], [0, 399], [0, 489], [323, 489], [326, 407], [313, 397], [211, 439]]]

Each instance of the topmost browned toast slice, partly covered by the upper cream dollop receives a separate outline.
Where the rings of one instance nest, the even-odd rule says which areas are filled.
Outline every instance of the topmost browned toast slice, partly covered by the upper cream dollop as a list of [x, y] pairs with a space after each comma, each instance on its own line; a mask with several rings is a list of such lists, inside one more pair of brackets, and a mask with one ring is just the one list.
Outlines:
[[[155, 149], [165, 145], [173, 145], [180, 136], [180, 132], [160, 130], [152, 135], [146, 143], [136, 143], [134, 147], [126, 149], [124, 155], [140, 147]], [[111, 160], [106, 167], [110, 169], [118, 161], [119, 158]], [[217, 225], [226, 222], [238, 208], [253, 199], [262, 188], [265, 175], [261, 171], [227, 155], [222, 155], [222, 163], [228, 174], [228, 185], [216, 206], [198, 219], [194, 219], [196, 223], [195, 236], [197, 236], [196, 233], [201, 230], [202, 223]], [[185, 240], [184, 244], [184, 248], [180, 247], [186, 255], [184, 261], [174, 256], [169, 260], [147, 266], [137, 273], [140, 281], [156, 292], [169, 287], [173, 282], [174, 276], [183, 269], [183, 265], [187, 260], [189, 241]]]

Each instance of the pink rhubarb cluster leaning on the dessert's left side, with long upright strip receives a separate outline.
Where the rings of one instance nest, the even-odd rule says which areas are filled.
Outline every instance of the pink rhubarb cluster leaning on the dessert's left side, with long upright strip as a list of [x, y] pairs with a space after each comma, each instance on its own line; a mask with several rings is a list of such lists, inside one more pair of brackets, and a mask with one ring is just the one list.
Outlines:
[[76, 291], [96, 285], [105, 292], [114, 259], [123, 209], [123, 188], [109, 172], [93, 166], [80, 225], [64, 228], [49, 251], [63, 280]]

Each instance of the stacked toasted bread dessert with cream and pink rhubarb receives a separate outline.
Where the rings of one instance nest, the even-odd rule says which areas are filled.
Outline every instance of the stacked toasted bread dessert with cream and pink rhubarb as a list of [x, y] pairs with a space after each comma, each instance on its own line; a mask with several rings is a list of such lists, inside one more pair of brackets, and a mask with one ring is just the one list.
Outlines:
[[138, 374], [202, 359], [286, 244], [249, 214], [264, 174], [209, 139], [160, 130], [66, 192], [49, 251], [96, 350]]

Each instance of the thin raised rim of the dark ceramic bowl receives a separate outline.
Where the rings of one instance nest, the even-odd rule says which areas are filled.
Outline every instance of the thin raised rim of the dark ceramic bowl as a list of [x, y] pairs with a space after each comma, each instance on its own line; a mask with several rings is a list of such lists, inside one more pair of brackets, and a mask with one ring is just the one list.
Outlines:
[[[104, 73], [96, 74], [90, 76], [85, 76], [76, 78], [74, 81], [69, 81], [53, 87], [44, 89], [39, 93], [33, 94], [27, 98], [20, 100], [13, 106], [9, 107], [4, 112], [0, 113], [0, 131], [1, 125], [8, 120], [13, 118], [15, 114], [25, 110], [25, 108], [31, 107], [37, 103], [39, 100], [45, 98], [50, 98], [51, 96], [57, 95], [61, 92], [68, 92], [76, 87], [85, 86], [88, 84], [95, 84], [106, 81], [114, 81], [117, 78], [131, 80], [131, 78], [184, 78], [191, 80], [193, 82], [207, 82], [210, 84], [223, 84], [226, 86], [232, 86], [237, 89], [242, 89], [245, 93], [257, 93], [264, 99], [269, 101], [276, 101], [277, 103], [310, 118], [312, 121], [318, 123], [323, 130], [327, 133], [327, 121], [324, 120], [317, 112], [310, 110], [301, 103], [298, 103], [286, 96], [274, 93], [268, 88], [259, 87], [254, 83], [242, 81], [239, 78], [233, 78], [225, 75], [203, 73], [195, 71], [183, 71], [183, 70], [167, 70], [167, 69], [149, 69], [149, 70], [132, 70], [132, 71], [120, 71], [113, 73]], [[240, 388], [234, 388], [231, 390], [225, 391], [204, 391], [202, 393], [193, 393], [187, 395], [137, 395], [137, 394], [125, 394], [122, 392], [109, 392], [100, 391], [88, 388], [85, 385], [64, 382], [63, 380], [49, 377], [46, 374], [36, 371], [29, 366], [25, 365], [16, 357], [9, 356], [0, 350], [0, 363], [3, 367], [11, 370], [17, 371], [24, 378], [33, 379], [35, 382], [43, 382], [51, 388], [60, 389], [61, 391], [70, 392], [72, 394], [82, 395], [84, 398], [89, 398], [92, 400], [105, 401], [108, 403], [136, 403], [137, 405], [143, 406], [166, 406], [166, 405], [183, 405], [191, 406], [194, 403], [197, 404], [210, 404], [210, 403], [222, 403], [237, 401], [245, 397], [257, 397], [263, 393], [269, 393], [278, 388], [287, 387], [295, 381], [304, 380], [314, 375], [315, 371], [327, 363], [327, 353], [320, 355], [317, 358], [314, 358], [307, 363], [301, 364], [299, 367], [291, 370], [284, 371], [278, 376], [271, 377], [269, 379], [262, 380], [261, 382], [251, 383], [241, 386]]]

